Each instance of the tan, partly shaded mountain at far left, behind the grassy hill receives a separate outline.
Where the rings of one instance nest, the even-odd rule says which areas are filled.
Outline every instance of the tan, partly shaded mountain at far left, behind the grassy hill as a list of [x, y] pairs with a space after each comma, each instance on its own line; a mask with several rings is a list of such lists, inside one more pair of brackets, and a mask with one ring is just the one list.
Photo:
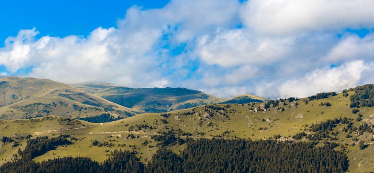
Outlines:
[[143, 112], [48, 79], [2, 77], [0, 98], [0, 119], [47, 115], [84, 118], [102, 114], [128, 117]]

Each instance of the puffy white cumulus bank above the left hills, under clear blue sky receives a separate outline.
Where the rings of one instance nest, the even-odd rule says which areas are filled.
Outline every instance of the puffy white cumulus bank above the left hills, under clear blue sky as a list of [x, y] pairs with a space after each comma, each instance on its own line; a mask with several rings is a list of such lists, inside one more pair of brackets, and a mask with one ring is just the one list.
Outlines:
[[141, 82], [152, 82], [152, 75], [157, 75], [146, 73], [156, 64], [144, 55], [147, 49], [139, 44], [140, 48], [117, 42], [118, 32], [114, 28], [99, 27], [87, 38], [44, 36], [35, 40], [37, 33], [35, 29], [21, 30], [16, 37], [7, 39], [0, 51], [0, 61], [11, 72], [33, 66], [28, 75], [63, 82], [107, 81], [127, 76], [131, 80], [126, 83], [133, 85], [137, 83], [132, 76], [139, 77], [137, 72], [144, 75]]

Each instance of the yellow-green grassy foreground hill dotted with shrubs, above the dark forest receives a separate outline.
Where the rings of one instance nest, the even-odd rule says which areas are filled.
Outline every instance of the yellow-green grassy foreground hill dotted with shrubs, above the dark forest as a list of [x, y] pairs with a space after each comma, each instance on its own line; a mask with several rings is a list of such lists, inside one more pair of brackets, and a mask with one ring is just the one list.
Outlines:
[[[135, 151], [147, 163], [161, 147], [161, 142], [152, 136], [171, 134], [192, 139], [314, 141], [317, 146], [336, 143], [334, 150], [343, 151], [348, 157], [348, 172], [363, 173], [374, 170], [373, 88], [374, 85], [365, 85], [338, 94], [319, 93], [308, 98], [265, 103], [203, 105], [168, 113], [139, 114], [101, 124], [58, 120], [58, 117], [2, 120], [0, 129], [4, 132], [2, 136], [9, 136], [19, 144], [25, 144], [26, 139], [21, 136], [27, 135], [35, 138], [68, 134], [77, 139], [71, 145], [59, 146], [36, 157], [34, 160], [38, 162], [64, 156], [83, 156], [103, 162], [112, 151], [122, 149]], [[73, 122], [73, 125], [59, 121]], [[0, 144], [1, 163], [14, 159], [18, 148], [24, 147], [13, 143]], [[166, 145], [176, 154], [185, 147], [178, 143]]]

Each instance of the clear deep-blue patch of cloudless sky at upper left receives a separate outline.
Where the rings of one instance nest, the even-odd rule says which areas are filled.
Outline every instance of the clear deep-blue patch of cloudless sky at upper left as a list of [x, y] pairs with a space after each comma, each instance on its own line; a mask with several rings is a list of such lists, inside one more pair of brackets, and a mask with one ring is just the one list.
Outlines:
[[[1, 2], [0, 40], [21, 29], [37, 28], [40, 36], [87, 36], [97, 27], [113, 27], [134, 5], [161, 8], [170, 0], [6, 0]], [[4, 42], [1, 41], [1, 46]]]

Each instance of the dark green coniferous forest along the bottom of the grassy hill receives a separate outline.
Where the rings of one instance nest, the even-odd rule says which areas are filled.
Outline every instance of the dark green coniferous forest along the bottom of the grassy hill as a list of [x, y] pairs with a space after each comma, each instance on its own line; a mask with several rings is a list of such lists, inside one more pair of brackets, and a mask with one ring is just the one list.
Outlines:
[[[74, 139], [69, 137], [69, 139]], [[144, 165], [130, 151], [114, 151], [103, 163], [84, 157], [65, 157], [36, 163], [29, 153], [47, 150], [47, 146], [65, 145], [69, 139], [39, 138], [42, 145], [28, 141], [20, 158], [0, 167], [1, 173], [342, 173], [348, 160], [334, 143], [317, 147], [313, 142], [251, 141], [244, 139], [187, 139], [179, 154], [160, 148]], [[166, 138], [168, 139], [168, 138]], [[45, 144], [45, 145], [44, 145]], [[53, 147], [49, 147], [53, 148]], [[30, 151], [31, 149], [35, 151]], [[30, 158], [31, 157], [31, 158]]]

